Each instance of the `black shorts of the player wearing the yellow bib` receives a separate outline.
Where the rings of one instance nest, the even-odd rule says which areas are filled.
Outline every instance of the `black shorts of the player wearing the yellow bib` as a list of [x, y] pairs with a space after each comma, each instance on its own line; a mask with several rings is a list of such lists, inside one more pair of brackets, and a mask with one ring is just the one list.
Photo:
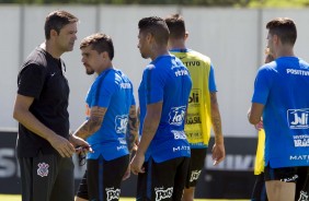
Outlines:
[[191, 149], [191, 158], [185, 188], [196, 187], [197, 180], [205, 165], [206, 153], [207, 147]]

